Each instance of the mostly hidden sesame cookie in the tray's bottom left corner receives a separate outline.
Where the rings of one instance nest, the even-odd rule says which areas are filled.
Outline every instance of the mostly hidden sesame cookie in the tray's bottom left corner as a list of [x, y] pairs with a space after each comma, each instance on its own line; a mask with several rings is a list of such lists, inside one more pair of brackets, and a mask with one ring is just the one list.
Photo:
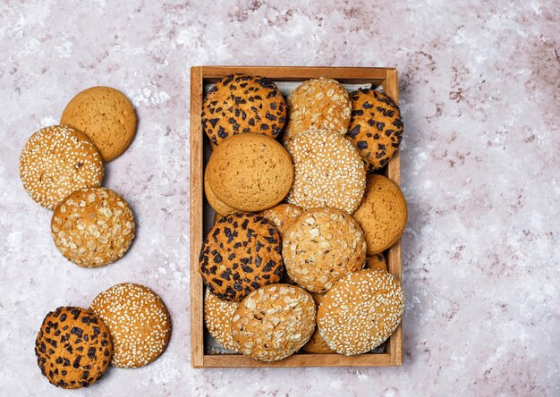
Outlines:
[[210, 290], [204, 294], [204, 324], [208, 333], [230, 351], [238, 351], [237, 344], [232, 337], [233, 313], [239, 306], [237, 302], [219, 300]]

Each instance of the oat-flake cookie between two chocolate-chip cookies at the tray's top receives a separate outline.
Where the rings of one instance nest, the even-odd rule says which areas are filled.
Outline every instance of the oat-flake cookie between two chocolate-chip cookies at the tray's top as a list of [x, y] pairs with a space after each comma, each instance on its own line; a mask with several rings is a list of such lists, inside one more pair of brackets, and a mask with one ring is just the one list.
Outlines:
[[320, 77], [304, 81], [288, 96], [287, 104], [284, 145], [303, 131], [328, 130], [344, 135], [350, 125], [350, 97], [336, 80]]

